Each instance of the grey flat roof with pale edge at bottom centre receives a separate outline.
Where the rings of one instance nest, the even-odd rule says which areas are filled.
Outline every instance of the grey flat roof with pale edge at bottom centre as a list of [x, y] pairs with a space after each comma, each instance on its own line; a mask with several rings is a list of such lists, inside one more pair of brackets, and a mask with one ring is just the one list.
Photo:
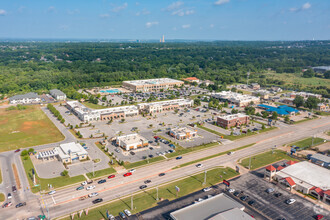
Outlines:
[[245, 207], [226, 194], [221, 193], [196, 204], [171, 212], [170, 215], [175, 220], [210, 219], [219, 213], [234, 208], [244, 210]]

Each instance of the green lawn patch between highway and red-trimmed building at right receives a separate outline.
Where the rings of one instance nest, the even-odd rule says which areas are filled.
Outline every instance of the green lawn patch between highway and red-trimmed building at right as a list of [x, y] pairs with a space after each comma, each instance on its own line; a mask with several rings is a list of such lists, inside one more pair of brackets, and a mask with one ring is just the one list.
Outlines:
[[[274, 163], [276, 161], [280, 161], [280, 160], [295, 160], [296, 159], [290, 157], [289, 155], [286, 154], [285, 151], [281, 151], [281, 150], [274, 150], [274, 153], [272, 153], [272, 151], [267, 151], [265, 153], [262, 154], [258, 154], [255, 156], [251, 157], [251, 170], [257, 169], [259, 167], [263, 167], [266, 166], [267, 164], [271, 164]], [[243, 167], [248, 168], [249, 167], [249, 160], [250, 158], [245, 158], [241, 161], [241, 165]]]

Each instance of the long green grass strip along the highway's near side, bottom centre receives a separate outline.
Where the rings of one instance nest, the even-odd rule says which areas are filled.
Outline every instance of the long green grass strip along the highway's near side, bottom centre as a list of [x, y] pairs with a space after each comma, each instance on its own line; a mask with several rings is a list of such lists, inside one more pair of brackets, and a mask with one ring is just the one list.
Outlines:
[[[215, 168], [207, 172], [207, 183], [202, 185], [204, 181], [204, 173], [193, 175], [182, 180], [175, 181], [173, 183], [166, 184], [159, 187], [158, 195], [159, 198], [173, 200], [176, 199], [175, 186], [180, 188], [179, 197], [190, 194], [194, 191], [201, 190], [204, 187], [211, 186], [222, 182], [220, 175], [224, 179], [230, 179], [237, 175], [237, 173], [231, 168]], [[154, 207], [157, 205], [156, 200], [156, 189], [146, 190], [144, 192], [134, 195], [134, 210], [131, 211], [133, 214], [141, 212], [145, 209]], [[82, 215], [82, 220], [87, 219], [106, 219], [106, 210], [109, 210], [110, 214], [117, 216], [120, 211], [131, 208], [131, 197], [122, 198], [117, 201], [113, 201], [109, 204], [101, 207], [89, 210], [88, 216]], [[66, 219], [70, 219], [69, 217]]]

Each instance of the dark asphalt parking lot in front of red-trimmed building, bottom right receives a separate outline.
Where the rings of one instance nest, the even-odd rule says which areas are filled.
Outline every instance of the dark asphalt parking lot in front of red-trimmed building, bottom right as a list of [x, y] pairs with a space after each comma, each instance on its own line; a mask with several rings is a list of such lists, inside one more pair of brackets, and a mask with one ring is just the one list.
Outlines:
[[[330, 213], [328, 211], [309, 200], [292, 194], [280, 185], [274, 185], [264, 180], [261, 177], [262, 174], [263, 169], [260, 169], [231, 180], [230, 188], [235, 189], [235, 191], [243, 191], [236, 198], [247, 195], [248, 199], [244, 203], [248, 206], [248, 202], [254, 200], [255, 203], [252, 207], [271, 219], [314, 219], [317, 214], [329, 216]], [[275, 191], [268, 193], [266, 192], [268, 188], [274, 188]], [[282, 195], [276, 197], [276, 193], [281, 193]], [[234, 195], [232, 196], [234, 197]], [[285, 203], [288, 199], [295, 199], [296, 202], [288, 205]]]

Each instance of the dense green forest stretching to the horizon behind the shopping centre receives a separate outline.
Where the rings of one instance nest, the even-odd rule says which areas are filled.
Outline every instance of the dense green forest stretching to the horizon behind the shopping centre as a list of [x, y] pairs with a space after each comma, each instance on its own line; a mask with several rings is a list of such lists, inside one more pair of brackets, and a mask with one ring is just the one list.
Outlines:
[[[330, 65], [330, 41], [0, 42], [0, 94], [52, 88], [69, 92], [159, 77], [196, 76], [223, 86], [246, 82], [248, 71], [254, 82], [281, 86], [284, 81], [265, 73], [301, 73], [322, 65]], [[329, 87], [314, 90], [329, 94]]]

